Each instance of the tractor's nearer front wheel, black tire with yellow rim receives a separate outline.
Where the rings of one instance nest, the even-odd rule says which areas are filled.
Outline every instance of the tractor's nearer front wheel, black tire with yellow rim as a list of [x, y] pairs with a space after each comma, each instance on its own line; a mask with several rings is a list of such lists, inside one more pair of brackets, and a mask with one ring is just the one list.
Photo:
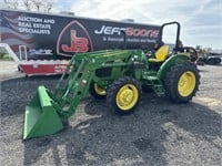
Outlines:
[[130, 114], [140, 101], [141, 86], [130, 76], [115, 80], [108, 90], [107, 102], [119, 114]]

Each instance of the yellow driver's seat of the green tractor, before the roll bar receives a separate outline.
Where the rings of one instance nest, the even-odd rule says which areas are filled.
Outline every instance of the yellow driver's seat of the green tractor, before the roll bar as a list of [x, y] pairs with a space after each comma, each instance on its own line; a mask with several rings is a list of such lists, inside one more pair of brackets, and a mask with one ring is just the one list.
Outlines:
[[169, 45], [162, 45], [158, 51], [155, 52], [155, 59], [149, 59], [149, 62], [163, 62], [168, 54], [170, 52]]

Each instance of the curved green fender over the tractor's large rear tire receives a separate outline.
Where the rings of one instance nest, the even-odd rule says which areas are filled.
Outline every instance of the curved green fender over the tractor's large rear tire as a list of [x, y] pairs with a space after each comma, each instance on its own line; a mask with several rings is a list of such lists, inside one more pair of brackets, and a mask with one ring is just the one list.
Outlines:
[[171, 66], [173, 66], [176, 63], [190, 61], [190, 58], [184, 54], [176, 54], [171, 55], [159, 69], [157, 76], [159, 80], [163, 80], [167, 72], [170, 70]]

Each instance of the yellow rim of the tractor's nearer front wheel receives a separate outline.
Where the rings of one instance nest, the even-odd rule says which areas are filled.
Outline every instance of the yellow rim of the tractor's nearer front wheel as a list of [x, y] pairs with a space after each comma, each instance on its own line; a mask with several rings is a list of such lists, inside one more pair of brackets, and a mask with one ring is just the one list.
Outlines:
[[122, 111], [131, 110], [138, 102], [139, 92], [133, 84], [125, 84], [117, 94], [117, 105]]

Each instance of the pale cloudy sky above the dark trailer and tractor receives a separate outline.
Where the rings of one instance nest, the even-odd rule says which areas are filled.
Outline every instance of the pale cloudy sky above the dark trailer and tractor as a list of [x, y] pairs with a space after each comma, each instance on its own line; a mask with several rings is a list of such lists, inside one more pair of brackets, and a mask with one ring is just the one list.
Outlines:
[[64, 10], [148, 24], [178, 21], [184, 45], [222, 49], [222, 0], [58, 0], [53, 12]]

